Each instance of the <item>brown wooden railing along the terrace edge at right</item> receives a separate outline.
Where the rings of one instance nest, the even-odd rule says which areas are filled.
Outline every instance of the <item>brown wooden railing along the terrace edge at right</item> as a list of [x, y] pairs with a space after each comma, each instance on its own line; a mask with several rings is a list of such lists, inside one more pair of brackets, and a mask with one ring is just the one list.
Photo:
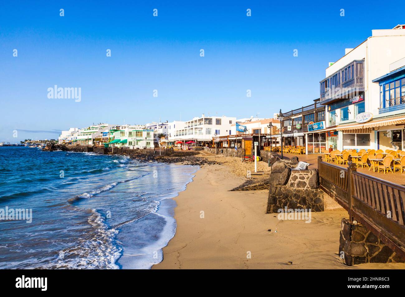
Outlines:
[[350, 220], [365, 225], [393, 251], [405, 257], [405, 187], [347, 169], [318, 157], [320, 188], [336, 199]]

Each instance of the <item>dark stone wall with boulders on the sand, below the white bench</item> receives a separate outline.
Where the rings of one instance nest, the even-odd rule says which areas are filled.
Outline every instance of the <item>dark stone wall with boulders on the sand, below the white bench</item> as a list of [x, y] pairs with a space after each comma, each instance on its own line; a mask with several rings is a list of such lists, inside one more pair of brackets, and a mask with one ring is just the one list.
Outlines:
[[286, 206], [324, 211], [326, 194], [319, 189], [318, 169], [292, 170], [294, 164], [277, 159], [271, 166], [266, 213], [277, 213]]

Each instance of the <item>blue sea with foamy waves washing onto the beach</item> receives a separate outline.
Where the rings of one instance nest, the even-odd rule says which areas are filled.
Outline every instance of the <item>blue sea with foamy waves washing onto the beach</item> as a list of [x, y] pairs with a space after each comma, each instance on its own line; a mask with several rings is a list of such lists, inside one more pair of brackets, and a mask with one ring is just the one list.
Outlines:
[[150, 268], [175, 234], [170, 198], [198, 170], [29, 147], [0, 160], [0, 218], [32, 209], [31, 223], [0, 220], [0, 268]]

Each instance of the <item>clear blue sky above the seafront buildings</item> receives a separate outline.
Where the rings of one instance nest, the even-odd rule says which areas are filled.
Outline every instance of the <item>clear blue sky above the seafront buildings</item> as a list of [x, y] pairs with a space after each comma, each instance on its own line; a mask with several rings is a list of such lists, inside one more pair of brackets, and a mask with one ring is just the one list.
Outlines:
[[[309, 105], [319, 97], [328, 62], [366, 40], [372, 29], [405, 23], [404, 6], [2, 1], [0, 141], [57, 138], [62, 129], [93, 122], [143, 124], [203, 113], [272, 117], [280, 108]], [[55, 84], [80, 87], [81, 102], [48, 99], [47, 88]]]

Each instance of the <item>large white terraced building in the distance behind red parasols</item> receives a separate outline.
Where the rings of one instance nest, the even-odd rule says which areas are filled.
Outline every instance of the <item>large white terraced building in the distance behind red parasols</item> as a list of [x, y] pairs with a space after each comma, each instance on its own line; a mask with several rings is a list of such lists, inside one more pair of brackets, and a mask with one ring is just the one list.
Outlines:
[[184, 124], [177, 124], [170, 131], [169, 143], [194, 141], [197, 146], [212, 145], [213, 137], [232, 135], [236, 132], [235, 128], [232, 131], [231, 127], [235, 121], [235, 117], [205, 116], [203, 114], [201, 117], [195, 117], [184, 122]]

